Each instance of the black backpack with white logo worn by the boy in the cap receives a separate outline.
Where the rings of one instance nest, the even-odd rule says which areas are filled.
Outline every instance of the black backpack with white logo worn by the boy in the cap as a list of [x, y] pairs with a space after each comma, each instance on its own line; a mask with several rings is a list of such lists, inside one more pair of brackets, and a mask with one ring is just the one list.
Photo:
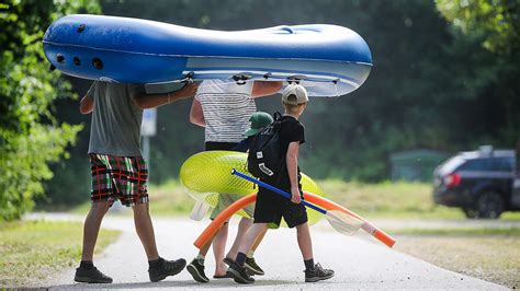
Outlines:
[[258, 178], [273, 177], [283, 170], [285, 158], [281, 156], [281, 114], [274, 114], [274, 121], [252, 137], [247, 156], [247, 170]]

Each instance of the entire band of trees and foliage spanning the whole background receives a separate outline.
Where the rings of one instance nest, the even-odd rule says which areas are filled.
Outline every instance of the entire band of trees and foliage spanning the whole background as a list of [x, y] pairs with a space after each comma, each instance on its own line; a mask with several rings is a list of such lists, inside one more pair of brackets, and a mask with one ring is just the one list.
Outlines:
[[[2, 46], [11, 44], [10, 49], [2, 50], [2, 78], [8, 78], [0, 84], [1, 163], [7, 164], [9, 156], [11, 164], [12, 161], [33, 164], [31, 171], [43, 166], [45, 171], [38, 170], [35, 174], [39, 176], [30, 179], [36, 183], [36, 191], [41, 191], [39, 181], [52, 175], [46, 164], [63, 156], [63, 147], [72, 141], [78, 130], [76, 126], [60, 125], [53, 114], [67, 124], [83, 124], [77, 146], [69, 149], [71, 159], [54, 164], [53, 171], [59, 175], [46, 184], [46, 190], [57, 202], [88, 199], [86, 152], [90, 118], [77, 114], [77, 101], [54, 102], [55, 112], [49, 110], [49, 105], [58, 96], [70, 95], [65, 93], [70, 92], [67, 80], [72, 81], [78, 94], [83, 94], [90, 82], [58, 78], [57, 73], [45, 71], [47, 65], [43, 61], [39, 39], [53, 19], [90, 5], [90, 1], [56, 1], [55, 5], [48, 0], [9, 3], [2, 7], [2, 11], [8, 7], [9, 12], [2, 12], [2, 28], [7, 28], [0, 32]], [[329, 23], [358, 32], [373, 55], [374, 67], [369, 80], [350, 95], [312, 100], [302, 118], [307, 140], [301, 151], [302, 167], [316, 178], [381, 181], [389, 177], [389, 155], [395, 152], [429, 149], [451, 153], [479, 144], [512, 148], [519, 142], [518, 0], [319, 0], [298, 3], [276, 0], [101, 0], [101, 8], [106, 15], [211, 30]], [[27, 88], [35, 88], [34, 82], [45, 84], [37, 86], [39, 93], [29, 93]], [[203, 129], [188, 121], [190, 106], [191, 101], [182, 101], [159, 108], [158, 135], [151, 138], [152, 182], [176, 177], [182, 161], [203, 149]], [[279, 96], [259, 100], [258, 107], [271, 113], [280, 110]], [[5, 132], [14, 132], [16, 141], [8, 140]], [[49, 138], [52, 132], [58, 132], [56, 135], [61, 138]], [[43, 139], [39, 144], [33, 141], [38, 139], [32, 137], [35, 135]], [[36, 158], [27, 158], [32, 156], [30, 150], [19, 150], [18, 144], [27, 140], [47, 158], [33, 161], [31, 159]], [[25, 155], [16, 156], [19, 152]], [[19, 176], [31, 173], [18, 165], [5, 168]], [[0, 174], [2, 187], [12, 184], [4, 173]], [[33, 187], [31, 183], [13, 185], [23, 187], [15, 195], [5, 197], [16, 197], [25, 193], [24, 187]]]

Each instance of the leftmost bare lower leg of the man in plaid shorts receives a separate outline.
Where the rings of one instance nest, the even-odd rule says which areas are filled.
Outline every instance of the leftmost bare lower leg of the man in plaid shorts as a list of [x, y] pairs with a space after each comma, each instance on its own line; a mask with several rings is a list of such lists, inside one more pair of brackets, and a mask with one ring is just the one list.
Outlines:
[[83, 224], [83, 252], [81, 260], [92, 261], [101, 221], [106, 211], [109, 211], [109, 208], [108, 201], [93, 202], [90, 207], [89, 214], [87, 214]]

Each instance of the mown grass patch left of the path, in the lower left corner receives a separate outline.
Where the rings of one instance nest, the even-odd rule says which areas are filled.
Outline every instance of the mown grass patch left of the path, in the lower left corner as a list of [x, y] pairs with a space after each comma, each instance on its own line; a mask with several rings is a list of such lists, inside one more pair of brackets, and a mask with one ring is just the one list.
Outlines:
[[[120, 232], [101, 230], [97, 252]], [[0, 287], [34, 286], [81, 257], [82, 224], [18, 221], [0, 223]]]

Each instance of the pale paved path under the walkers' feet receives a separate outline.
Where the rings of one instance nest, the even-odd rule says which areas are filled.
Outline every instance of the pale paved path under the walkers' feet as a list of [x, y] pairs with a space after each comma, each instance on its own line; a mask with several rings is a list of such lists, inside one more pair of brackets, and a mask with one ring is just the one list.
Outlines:
[[[37, 216], [36, 216], [37, 217]], [[34, 217], [33, 217], [34, 218]], [[52, 216], [50, 219], [75, 219], [69, 216]], [[76, 218], [82, 220], [82, 218]], [[234, 219], [229, 237], [236, 232]], [[196, 254], [193, 241], [206, 223], [188, 219], [154, 219], [158, 247], [166, 258]], [[103, 228], [123, 230], [117, 242], [95, 258], [95, 265], [113, 277], [112, 284], [74, 283], [74, 269], [64, 271], [45, 287], [50, 289], [230, 289], [244, 288], [230, 279], [212, 280], [201, 284], [192, 280], [188, 271], [151, 283], [143, 247], [134, 231], [132, 218], [109, 216]], [[257, 261], [267, 271], [256, 277], [251, 289], [463, 289], [507, 290], [502, 286], [452, 272], [411, 256], [393, 251], [368, 236], [343, 236], [321, 221], [312, 228], [315, 258], [323, 266], [336, 271], [336, 277], [318, 283], [304, 283], [303, 261], [296, 244], [295, 232], [287, 229], [268, 232], [256, 254]], [[213, 255], [206, 259], [206, 273], [213, 275]]]

